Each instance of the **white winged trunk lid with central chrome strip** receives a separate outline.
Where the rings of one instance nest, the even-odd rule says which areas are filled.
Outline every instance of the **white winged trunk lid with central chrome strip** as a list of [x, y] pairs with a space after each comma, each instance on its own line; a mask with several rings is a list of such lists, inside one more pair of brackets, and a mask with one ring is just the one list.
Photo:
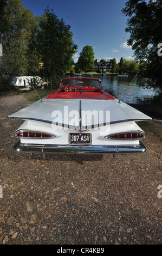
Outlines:
[[37, 101], [9, 118], [20, 118], [57, 123], [67, 127], [73, 126], [83, 130], [85, 127], [94, 128], [98, 125], [120, 123], [124, 121], [151, 120], [151, 117], [115, 100], [48, 100]]

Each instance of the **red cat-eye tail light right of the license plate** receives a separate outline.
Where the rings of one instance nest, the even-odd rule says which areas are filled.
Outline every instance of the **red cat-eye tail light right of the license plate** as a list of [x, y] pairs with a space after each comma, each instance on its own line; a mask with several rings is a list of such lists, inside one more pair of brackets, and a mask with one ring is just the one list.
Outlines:
[[145, 133], [139, 131], [121, 132], [105, 136], [106, 139], [144, 139]]

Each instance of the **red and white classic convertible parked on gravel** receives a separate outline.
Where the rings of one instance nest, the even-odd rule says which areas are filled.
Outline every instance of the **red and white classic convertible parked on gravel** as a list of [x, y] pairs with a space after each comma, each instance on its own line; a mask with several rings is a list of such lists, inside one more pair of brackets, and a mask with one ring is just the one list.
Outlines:
[[14, 149], [27, 153], [142, 153], [150, 117], [103, 92], [96, 78], [63, 78], [60, 88], [9, 115], [24, 119]]

